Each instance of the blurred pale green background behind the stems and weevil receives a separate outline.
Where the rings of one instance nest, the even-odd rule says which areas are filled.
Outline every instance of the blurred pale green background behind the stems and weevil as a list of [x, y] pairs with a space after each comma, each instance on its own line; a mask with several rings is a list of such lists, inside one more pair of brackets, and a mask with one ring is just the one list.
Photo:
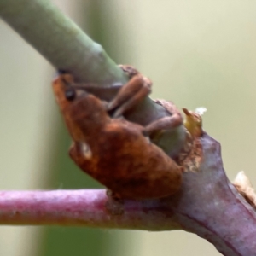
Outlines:
[[[255, 181], [256, 2], [74, 0], [55, 3], [118, 63], [154, 81], [152, 97], [208, 109], [228, 177]], [[54, 69], [0, 21], [0, 189], [99, 184], [67, 157], [70, 138], [52, 96]], [[256, 184], [256, 183], [254, 183]], [[202, 206], [203, 207], [203, 206]], [[0, 227], [0, 255], [220, 255], [183, 232]]]

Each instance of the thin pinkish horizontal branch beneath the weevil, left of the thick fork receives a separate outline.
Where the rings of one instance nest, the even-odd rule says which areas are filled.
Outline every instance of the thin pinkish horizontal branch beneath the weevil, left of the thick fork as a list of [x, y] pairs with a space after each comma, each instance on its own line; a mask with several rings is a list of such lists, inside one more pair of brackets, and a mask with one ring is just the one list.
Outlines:
[[[170, 220], [166, 227], [162, 227], [166, 217], [159, 209], [154, 209], [156, 202], [148, 201], [148, 204], [146, 201], [125, 201], [124, 205], [119, 205], [124, 207], [124, 212], [113, 214], [105, 207], [107, 201], [106, 191], [102, 189], [3, 191], [0, 192], [0, 223], [172, 229]], [[154, 222], [153, 219], [157, 221]]]

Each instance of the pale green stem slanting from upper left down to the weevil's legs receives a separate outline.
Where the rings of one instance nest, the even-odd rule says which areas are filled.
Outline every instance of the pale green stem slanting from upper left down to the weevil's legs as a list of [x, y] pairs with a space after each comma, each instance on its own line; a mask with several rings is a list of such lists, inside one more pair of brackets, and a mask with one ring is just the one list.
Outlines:
[[54, 67], [77, 80], [101, 86], [127, 81], [102, 46], [49, 0], [0, 0], [0, 15]]

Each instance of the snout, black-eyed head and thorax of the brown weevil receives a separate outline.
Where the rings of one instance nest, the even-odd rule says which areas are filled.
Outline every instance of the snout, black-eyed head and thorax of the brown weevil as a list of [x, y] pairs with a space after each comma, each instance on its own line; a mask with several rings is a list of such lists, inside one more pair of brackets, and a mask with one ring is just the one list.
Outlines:
[[86, 84], [76, 84], [73, 76], [61, 74], [53, 82], [56, 102], [67, 129], [75, 142], [83, 142], [110, 119], [104, 103], [86, 91]]

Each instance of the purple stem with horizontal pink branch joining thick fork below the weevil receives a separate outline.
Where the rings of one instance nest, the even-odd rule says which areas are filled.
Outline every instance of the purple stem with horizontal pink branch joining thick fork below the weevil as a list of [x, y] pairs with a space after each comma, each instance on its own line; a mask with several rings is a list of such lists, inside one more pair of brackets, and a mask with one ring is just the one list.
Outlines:
[[117, 203], [105, 190], [2, 191], [0, 224], [186, 230], [226, 256], [256, 255], [253, 207], [225, 176], [219, 143], [207, 134], [201, 143], [200, 172], [184, 173], [183, 188], [176, 195]]

